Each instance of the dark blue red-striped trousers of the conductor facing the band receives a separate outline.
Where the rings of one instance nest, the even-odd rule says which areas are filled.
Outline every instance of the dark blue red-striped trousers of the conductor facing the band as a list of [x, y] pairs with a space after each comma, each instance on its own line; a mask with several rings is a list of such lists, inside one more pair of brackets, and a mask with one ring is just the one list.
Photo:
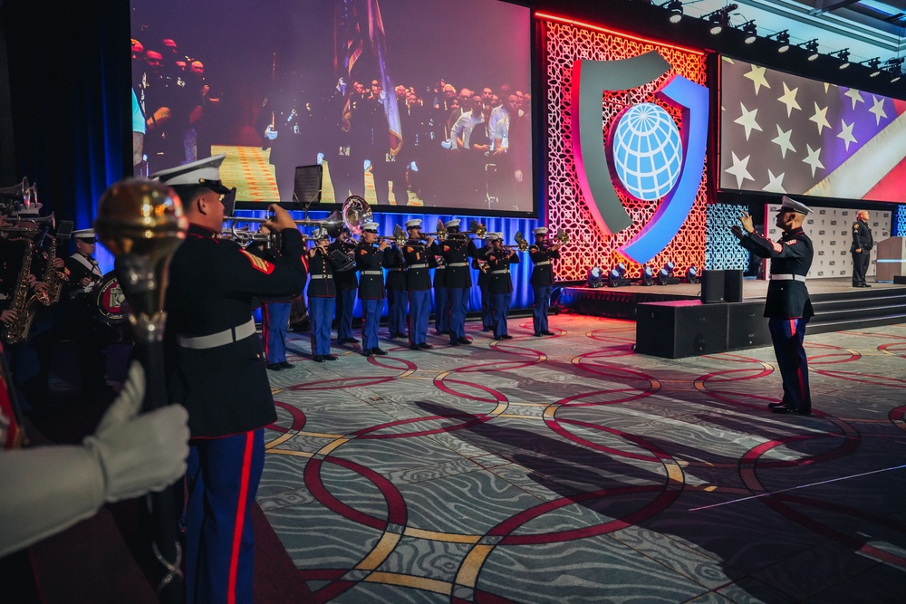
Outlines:
[[805, 326], [808, 319], [768, 319], [774, 353], [784, 379], [783, 404], [799, 411], [812, 409], [808, 390], [808, 360], [805, 357]]

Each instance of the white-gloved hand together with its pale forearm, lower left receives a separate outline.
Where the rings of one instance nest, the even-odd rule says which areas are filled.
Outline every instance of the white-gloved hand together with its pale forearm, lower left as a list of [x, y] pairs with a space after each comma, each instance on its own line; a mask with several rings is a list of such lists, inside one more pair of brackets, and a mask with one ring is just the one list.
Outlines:
[[90, 518], [105, 501], [159, 491], [186, 471], [188, 414], [171, 405], [137, 415], [144, 371], [129, 380], [84, 446], [0, 451], [0, 557]]

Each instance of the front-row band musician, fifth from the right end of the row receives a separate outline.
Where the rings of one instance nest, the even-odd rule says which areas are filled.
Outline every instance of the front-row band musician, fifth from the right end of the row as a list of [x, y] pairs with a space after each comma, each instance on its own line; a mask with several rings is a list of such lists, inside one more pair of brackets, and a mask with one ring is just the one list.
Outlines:
[[[361, 240], [355, 248], [355, 265], [359, 269], [361, 300], [361, 354], [366, 357], [387, 354], [378, 346], [378, 325], [384, 305], [384, 272], [390, 244], [381, 241], [377, 247], [378, 223], [361, 225]], [[395, 255], [395, 254], [392, 254]]]

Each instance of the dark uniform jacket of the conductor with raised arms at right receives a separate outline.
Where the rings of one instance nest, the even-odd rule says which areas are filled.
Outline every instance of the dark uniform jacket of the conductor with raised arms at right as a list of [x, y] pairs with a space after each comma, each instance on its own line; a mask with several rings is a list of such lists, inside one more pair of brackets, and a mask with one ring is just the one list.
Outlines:
[[[785, 231], [778, 242], [752, 233], [739, 240], [739, 244], [761, 258], [771, 259], [771, 274], [794, 274], [805, 277], [812, 266], [812, 240], [802, 227]], [[805, 279], [775, 280], [767, 286], [765, 316], [771, 319], [809, 319], [814, 315], [812, 302], [805, 289]]]

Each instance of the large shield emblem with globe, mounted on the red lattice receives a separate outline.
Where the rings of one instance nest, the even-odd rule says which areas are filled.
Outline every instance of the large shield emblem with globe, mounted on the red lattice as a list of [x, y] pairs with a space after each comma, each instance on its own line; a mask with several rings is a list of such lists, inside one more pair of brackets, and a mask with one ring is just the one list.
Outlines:
[[676, 236], [699, 193], [708, 139], [708, 89], [679, 75], [670, 77], [655, 97], [679, 108], [682, 128], [659, 104], [639, 103], [605, 125], [606, 143], [602, 93], [629, 91], [669, 71], [670, 63], [654, 51], [620, 61], [573, 62], [573, 158], [595, 224], [605, 235], [632, 224], [618, 189], [641, 201], [660, 200], [648, 224], [617, 250], [639, 264], [651, 261]]

